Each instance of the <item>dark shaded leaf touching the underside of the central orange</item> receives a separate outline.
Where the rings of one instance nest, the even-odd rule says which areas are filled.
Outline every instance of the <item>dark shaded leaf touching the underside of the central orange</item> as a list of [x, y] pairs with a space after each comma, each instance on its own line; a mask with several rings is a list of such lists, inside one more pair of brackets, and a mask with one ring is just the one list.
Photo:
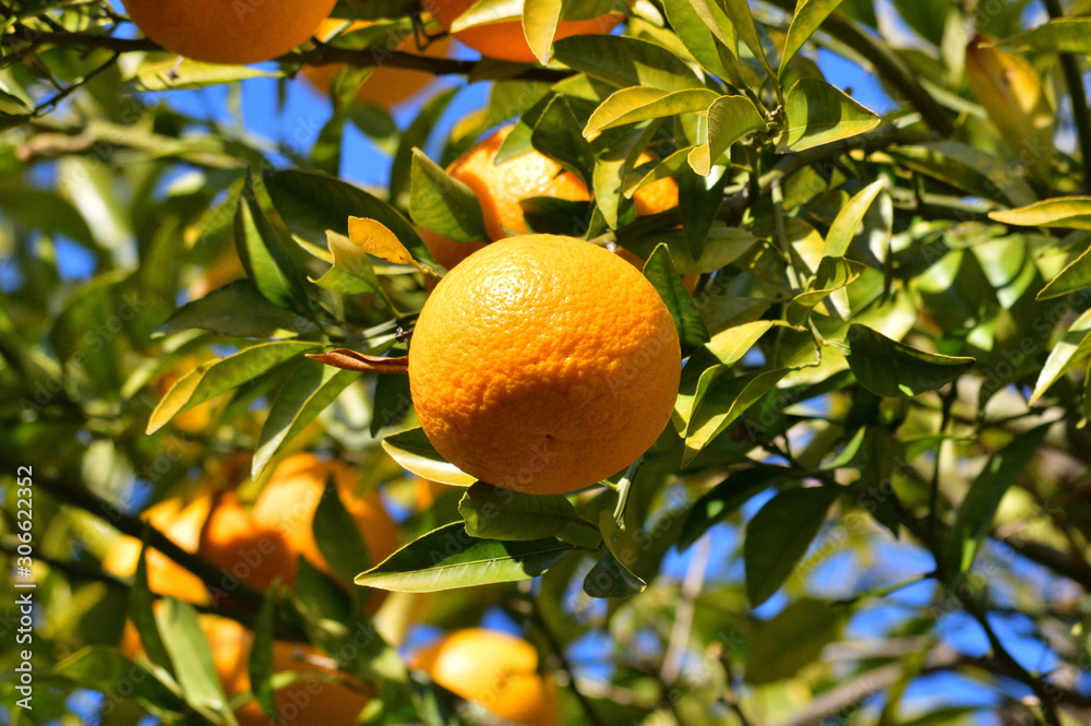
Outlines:
[[466, 523], [466, 534], [480, 539], [543, 539], [574, 523], [591, 526], [560, 495], [525, 495], [483, 481], [466, 490], [458, 513]]

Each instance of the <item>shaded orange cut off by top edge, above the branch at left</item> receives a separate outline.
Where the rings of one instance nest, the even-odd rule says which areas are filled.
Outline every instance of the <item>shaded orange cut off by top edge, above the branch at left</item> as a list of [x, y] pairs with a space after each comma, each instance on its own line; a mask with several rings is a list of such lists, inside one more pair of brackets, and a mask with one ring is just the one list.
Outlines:
[[144, 35], [179, 56], [244, 66], [283, 56], [313, 35], [336, 0], [122, 0]]

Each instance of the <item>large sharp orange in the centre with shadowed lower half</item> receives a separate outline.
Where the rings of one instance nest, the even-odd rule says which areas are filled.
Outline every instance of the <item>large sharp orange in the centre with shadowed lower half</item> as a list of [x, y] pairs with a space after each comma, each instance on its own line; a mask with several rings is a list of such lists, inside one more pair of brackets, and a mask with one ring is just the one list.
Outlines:
[[409, 386], [436, 451], [504, 489], [564, 493], [623, 469], [670, 420], [674, 321], [633, 265], [572, 237], [493, 242], [420, 312]]

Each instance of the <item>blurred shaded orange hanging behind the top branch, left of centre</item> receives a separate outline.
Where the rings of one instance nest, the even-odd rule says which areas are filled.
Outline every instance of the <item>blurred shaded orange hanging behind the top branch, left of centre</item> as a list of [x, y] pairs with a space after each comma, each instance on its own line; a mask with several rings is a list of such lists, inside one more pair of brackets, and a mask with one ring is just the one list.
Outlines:
[[[314, 32], [315, 37], [317, 37], [323, 43], [327, 41], [335, 33], [339, 32], [344, 27], [346, 21], [340, 20], [325, 20], [319, 25], [319, 29]], [[351, 33], [352, 31], [359, 31], [371, 25], [365, 21], [357, 21], [349, 25], [344, 32]], [[417, 41], [412, 35], [401, 38], [400, 43], [394, 43], [392, 40], [391, 50], [399, 50], [412, 52], [417, 50]], [[451, 50], [451, 38], [444, 37], [436, 39], [428, 45], [424, 49], [424, 56], [430, 58], [446, 58]], [[382, 50], [376, 50], [376, 52], [382, 52]], [[413, 71], [404, 68], [383, 68], [382, 57], [379, 56], [380, 63], [379, 67], [373, 70], [367, 79], [364, 79], [363, 84], [356, 94], [356, 99], [361, 103], [374, 104], [383, 108], [389, 108], [396, 104], [401, 103], [406, 98], [415, 95], [421, 88], [427, 86], [432, 82], [434, 78], [431, 73], [424, 71]], [[332, 64], [332, 66], [308, 66], [303, 68], [303, 78], [311, 82], [315, 88], [329, 93], [333, 87], [334, 79], [344, 66]]]

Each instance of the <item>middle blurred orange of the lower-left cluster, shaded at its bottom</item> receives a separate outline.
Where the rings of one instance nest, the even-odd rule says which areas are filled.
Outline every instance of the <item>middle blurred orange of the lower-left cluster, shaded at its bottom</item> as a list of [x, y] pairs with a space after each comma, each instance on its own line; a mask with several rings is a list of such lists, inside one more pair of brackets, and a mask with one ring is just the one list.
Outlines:
[[295, 585], [296, 556], [284, 534], [255, 523], [232, 492], [220, 497], [205, 521], [197, 554], [224, 571], [216, 584], [225, 594], [237, 582], [264, 592], [278, 575]]

